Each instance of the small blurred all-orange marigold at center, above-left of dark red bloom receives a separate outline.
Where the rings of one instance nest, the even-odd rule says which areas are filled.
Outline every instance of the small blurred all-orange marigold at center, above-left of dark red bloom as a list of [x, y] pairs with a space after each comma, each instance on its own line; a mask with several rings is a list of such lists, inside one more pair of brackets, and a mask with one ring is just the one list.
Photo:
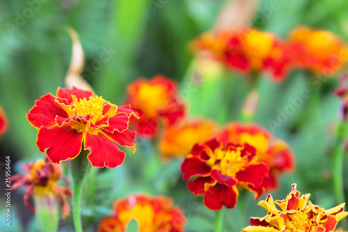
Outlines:
[[211, 139], [214, 124], [209, 121], [181, 121], [164, 128], [158, 147], [164, 157], [182, 157], [193, 145]]

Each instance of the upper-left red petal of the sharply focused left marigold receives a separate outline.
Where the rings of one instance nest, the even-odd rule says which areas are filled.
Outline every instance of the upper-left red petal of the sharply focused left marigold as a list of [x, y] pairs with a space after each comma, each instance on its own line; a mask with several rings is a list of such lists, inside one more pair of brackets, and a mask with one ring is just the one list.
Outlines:
[[47, 93], [35, 101], [35, 106], [26, 114], [29, 123], [35, 128], [52, 127], [56, 116], [68, 118], [68, 113], [55, 101], [54, 95]]

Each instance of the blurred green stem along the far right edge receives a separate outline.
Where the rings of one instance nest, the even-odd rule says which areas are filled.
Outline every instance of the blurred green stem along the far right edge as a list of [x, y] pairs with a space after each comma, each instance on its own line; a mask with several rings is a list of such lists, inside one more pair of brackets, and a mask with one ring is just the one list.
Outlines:
[[[333, 150], [333, 187], [335, 198], [338, 204], [345, 202], [345, 192], [343, 189], [343, 160], [345, 155], [345, 125], [338, 121], [335, 132], [335, 147]], [[347, 229], [347, 220], [341, 221], [342, 226]]]

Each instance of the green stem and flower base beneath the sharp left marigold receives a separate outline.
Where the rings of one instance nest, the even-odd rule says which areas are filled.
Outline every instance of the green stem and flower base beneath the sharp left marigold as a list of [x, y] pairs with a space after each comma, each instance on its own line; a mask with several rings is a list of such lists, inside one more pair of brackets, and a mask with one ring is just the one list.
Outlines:
[[76, 232], [82, 232], [81, 223], [81, 192], [84, 179], [90, 170], [90, 163], [87, 159], [89, 150], [81, 148], [81, 152], [70, 162], [70, 173], [72, 176], [72, 219]]

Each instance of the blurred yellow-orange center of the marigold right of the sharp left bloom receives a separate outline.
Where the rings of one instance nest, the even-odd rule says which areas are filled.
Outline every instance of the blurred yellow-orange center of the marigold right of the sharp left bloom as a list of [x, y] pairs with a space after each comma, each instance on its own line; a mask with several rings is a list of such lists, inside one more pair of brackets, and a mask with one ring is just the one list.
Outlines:
[[137, 98], [139, 105], [134, 107], [141, 109], [150, 118], [155, 118], [159, 109], [168, 104], [166, 89], [161, 84], [140, 84]]

